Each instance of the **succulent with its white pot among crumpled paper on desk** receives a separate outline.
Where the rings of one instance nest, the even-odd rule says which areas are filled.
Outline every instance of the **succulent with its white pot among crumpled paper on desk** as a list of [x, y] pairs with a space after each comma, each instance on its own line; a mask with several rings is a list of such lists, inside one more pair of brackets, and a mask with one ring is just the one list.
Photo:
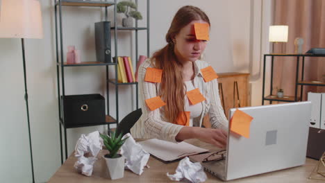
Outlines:
[[103, 139], [103, 144], [109, 151], [109, 153], [103, 155], [103, 157], [106, 160], [106, 165], [110, 173], [110, 179], [112, 180], [124, 177], [125, 158], [119, 154], [119, 148], [122, 147], [123, 143], [128, 138], [122, 139], [122, 134], [123, 133], [121, 132], [118, 137], [116, 137], [115, 132], [113, 132], [111, 137], [106, 134], [100, 134], [101, 139]]

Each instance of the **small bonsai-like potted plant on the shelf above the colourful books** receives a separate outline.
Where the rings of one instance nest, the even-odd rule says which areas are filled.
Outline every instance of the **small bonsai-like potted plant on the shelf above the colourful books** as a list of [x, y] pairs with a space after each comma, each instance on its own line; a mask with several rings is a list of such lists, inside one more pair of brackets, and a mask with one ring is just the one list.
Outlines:
[[117, 3], [117, 12], [122, 12], [126, 16], [126, 18], [122, 19], [122, 26], [124, 27], [132, 27], [133, 26], [133, 19], [142, 19], [142, 15], [140, 12], [136, 10], [137, 5], [132, 1], [121, 1]]

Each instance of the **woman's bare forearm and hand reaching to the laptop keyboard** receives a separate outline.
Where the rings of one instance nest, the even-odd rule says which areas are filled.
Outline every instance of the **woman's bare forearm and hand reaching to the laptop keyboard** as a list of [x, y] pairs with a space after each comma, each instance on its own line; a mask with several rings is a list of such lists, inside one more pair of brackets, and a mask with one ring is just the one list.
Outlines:
[[176, 141], [185, 139], [199, 139], [206, 143], [211, 143], [218, 148], [226, 148], [227, 132], [221, 129], [184, 127], [176, 135]]

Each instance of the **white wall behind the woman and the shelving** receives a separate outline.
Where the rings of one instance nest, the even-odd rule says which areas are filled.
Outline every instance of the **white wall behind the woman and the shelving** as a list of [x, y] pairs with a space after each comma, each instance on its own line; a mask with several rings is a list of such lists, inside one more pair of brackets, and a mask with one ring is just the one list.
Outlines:
[[[160, 49], [166, 44], [165, 33], [176, 10], [181, 6], [198, 6], [206, 11], [212, 24], [206, 60], [217, 72], [251, 72], [252, 104], [260, 105], [260, 58], [266, 53], [263, 27], [269, 24], [269, 1], [262, 0], [151, 0], [150, 49]], [[53, 1], [41, 1], [44, 39], [26, 40], [26, 64], [31, 132], [36, 182], [46, 182], [60, 166], [58, 126], [58, 94], [56, 86], [56, 52]], [[144, 15], [140, 26], [146, 22], [146, 3], [139, 1]], [[109, 8], [108, 15], [112, 14]], [[262, 11], [263, 10], [263, 11]], [[258, 12], [263, 12], [263, 19]], [[122, 16], [119, 15], [119, 22]], [[100, 8], [63, 8], [64, 49], [70, 44], [82, 51], [82, 61], [93, 61], [94, 22], [103, 20]], [[140, 55], [147, 54], [146, 32], [140, 31]], [[131, 38], [133, 37], [133, 38]], [[119, 55], [135, 56], [134, 33], [118, 33]], [[264, 39], [264, 38], [263, 38]], [[112, 43], [114, 44], [114, 43]], [[260, 48], [263, 49], [260, 49]], [[114, 49], [113, 49], [114, 53]], [[24, 103], [22, 50], [20, 40], [0, 39], [0, 182], [31, 182], [31, 165]], [[106, 96], [105, 69], [103, 67], [78, 67], [65, 69], [66, 94], [100, 93]], [[110, 77], [115, 76], [110, 68]], [[133, 91], [131, 93], [131, 91]], [[115, 89], [110, 85], [110, 108], [115, 116]], [[131, 94], [130, 94], [131, 93]], [[119, 119], [135, 109], [135, 92], [130, 86], [119, 87]], [[68, 152], [83, 133], [102, 127], [67, 130]]]

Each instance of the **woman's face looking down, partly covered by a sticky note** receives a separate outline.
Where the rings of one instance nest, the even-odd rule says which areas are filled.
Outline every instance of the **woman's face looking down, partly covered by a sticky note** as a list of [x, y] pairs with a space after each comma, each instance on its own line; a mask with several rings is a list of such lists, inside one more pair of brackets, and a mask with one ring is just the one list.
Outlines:
[[195, 62], [199, 59], [201, 53], [206, 49], [206, 40], [197, 40], [195, 37], [194, 24], [208, 24], [203, 20], [194, 20], [183, 27], [174, 37], [176, 41], [174, 51], [178, 59], [183, 62]]

